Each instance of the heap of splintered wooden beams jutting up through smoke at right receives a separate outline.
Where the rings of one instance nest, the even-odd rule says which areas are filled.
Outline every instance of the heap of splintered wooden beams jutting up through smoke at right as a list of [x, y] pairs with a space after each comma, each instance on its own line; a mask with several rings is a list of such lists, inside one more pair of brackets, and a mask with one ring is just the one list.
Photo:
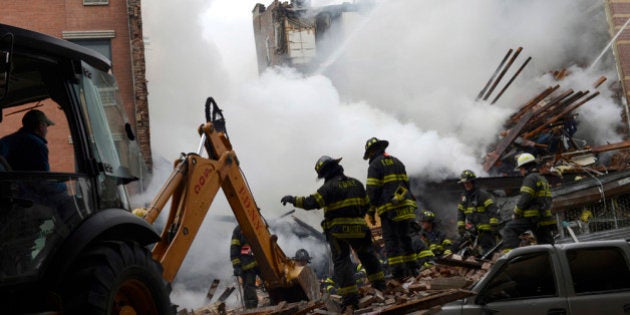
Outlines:
[[[521, 51], [522, 47], [516, 49], [514, 54], [512, 49], [508, 51], [490, 80], [479, 92], [477, 100], [490, 101], [495, 87]], [[499, 99], [530, 59], [531, 57], [522, 64], [490, 104]], [[567, 69], [560, 69], [551, 71], [550, 75], [560, 82], [570, 75], [570, 72]], [[605, 81], [604, 76], [597, 79], [592, 85], [593, 91], [563, 89], [556, 84], [533, 96], [505, 122], [505, 129], [500, 132], [499, 140], [488, 150], [483, 163], [484, 170], [494, 175], [513, 175], [514, 156], [526, 151], [534, 154], [542, 162], [542, 172], [579, 172], [584, 167], [597, 169], [595, 163], [599, 153], [630, 148], [628, 141], [591, 147], [585, 141], [573, 137], [578, 128], [575, 111], [597, 97], [600, 94], [597, 89]], [[609, 164], [606, 166], [608, 170], [611, 167], [617, 170], [625, 169], [630, 165], [630, 154], [621, 151]]]

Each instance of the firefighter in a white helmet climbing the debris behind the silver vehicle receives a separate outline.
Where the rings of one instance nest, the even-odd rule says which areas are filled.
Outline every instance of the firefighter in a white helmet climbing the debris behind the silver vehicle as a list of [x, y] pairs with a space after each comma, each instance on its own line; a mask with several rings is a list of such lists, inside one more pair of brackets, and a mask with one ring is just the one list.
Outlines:
[[523, 179], [520, 196], [514, 207], [513, 220], [503, 229], [503, 251], [519, 245], [519, 235], [531, 230], [538, 244], [553, 244], [556, 220], [551, 213], [551, 188], [547, 179], [538, 172], [536, 158], [530, 153], [520, 154], [516, 167]]

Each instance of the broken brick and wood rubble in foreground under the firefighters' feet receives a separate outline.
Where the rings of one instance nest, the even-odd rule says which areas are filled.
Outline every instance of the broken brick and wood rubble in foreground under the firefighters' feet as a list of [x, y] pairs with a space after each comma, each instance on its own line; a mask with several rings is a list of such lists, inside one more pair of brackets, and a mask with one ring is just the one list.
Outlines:
[[[410, 277], [404, 282], [388, 280], [387, 289], [383, 292], [369, 285], [361, 287], [359, 309], [355, 310], [355, 314], [404, 314], [437, 310], [441, 305], [472, 295], [466, 288], [479, 280], [491, 266], [492, 262], [479, 262], [473, 257], [464, 259], [450, 255], [440, 258], [438, 264], [423, 269], [417, 277]], [[213, 286], [216, 288], [216, 282]], [[233, 287], [228, 287], [224, 293], [232, 291]], [[281, 302], [256, 309], [226, 309], [226, 298], [223, 294], [217, 302], [191, 311], [183, 309], [177, 314], [338, 314], [341, 311], [341, 296], [334, 294], [324, 294], [318, 301]], [[268, 299], [261, 298], [261, 301]]]

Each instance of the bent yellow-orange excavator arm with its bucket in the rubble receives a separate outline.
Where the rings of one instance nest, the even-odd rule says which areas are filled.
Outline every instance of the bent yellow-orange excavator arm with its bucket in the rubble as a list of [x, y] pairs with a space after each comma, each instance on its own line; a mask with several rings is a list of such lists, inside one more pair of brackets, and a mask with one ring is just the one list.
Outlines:
[[[277, 244], [277, 237], [269, 232], [226, 133], [217, 130], [212, 122], [199, 127], [199, 133], [198, 152], [175, 162], [173, 172], [144, 215], [145, 220], [153, 223], [171, 200], [161, 239], [153, 248], [153, 259], [162, 264], [164, 279], [172, 282], [175, 278], [214, 197], [223, 189], [243, 234], [251, 243], [271, 300], [277, 303], [318, 299], [319, 284], [313, 271], [287, 258]], [[202, 148], [208, 153], [207, 158], [201, 156]]]

